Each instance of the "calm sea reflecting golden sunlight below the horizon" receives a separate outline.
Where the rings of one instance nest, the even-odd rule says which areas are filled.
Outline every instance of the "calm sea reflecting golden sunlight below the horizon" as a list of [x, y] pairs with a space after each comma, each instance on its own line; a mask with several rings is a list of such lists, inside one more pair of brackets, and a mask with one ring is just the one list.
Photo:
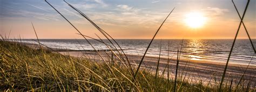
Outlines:
[[[107, 49], [107, 47], [95, 40], [89, 40], [96, 49]], [[107, 40], [104, 40], [109, 43]], [[126, 54], [143, 55], [150, 40], [116, 40]], [[147, 56], [159, 56], [161, 43], [161, 57], [167, 57], [168, 41], [170, 41], [170, 57], [177, 57], [177, 50], [181, 47], [182, 40], [154, 40]], [[32, 40], [23, 40], [25, 43], [36, 43]], [[41, 43], [51, 48], [62, 48], [72, 50], [92, 50], [85, 40], [40, 40]], [[233, 40], [184, 40], [181, 57], [193, 60], [207, 60], [211, 62], [226, 62]], [[256, 39], [253, 40], [256, 46]], [[254, 51], [249, 40], [239, 39], [235, 42], [230, 63], [248, 64], [252, 59]], [[256, 57], [256, 56], [255, 56]], [[256, 65], [256, 58], [252, 59], [251, 65]]]

